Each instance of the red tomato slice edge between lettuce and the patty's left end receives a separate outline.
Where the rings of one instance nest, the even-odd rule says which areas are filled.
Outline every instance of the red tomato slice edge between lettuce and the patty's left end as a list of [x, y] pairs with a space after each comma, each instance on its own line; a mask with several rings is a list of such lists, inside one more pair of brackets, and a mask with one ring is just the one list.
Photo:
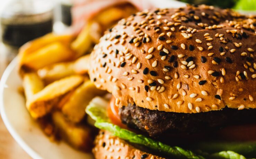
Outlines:
[[115, 101], [116, 99], [112, 96], [107, 107], [108, 116], [113, 124], [118, 125], [121, 128], [126, 128], [126, 125], [122, 123], [120, 116], [118, 115], [118, 107], [115, 105]]

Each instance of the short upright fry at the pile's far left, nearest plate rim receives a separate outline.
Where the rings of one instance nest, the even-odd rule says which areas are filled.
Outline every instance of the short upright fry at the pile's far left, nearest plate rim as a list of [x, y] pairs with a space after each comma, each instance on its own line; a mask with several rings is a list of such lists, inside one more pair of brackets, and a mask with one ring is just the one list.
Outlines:
[[30, 100], [34, 94], [43, 90], [44, 83], [36, 73], [27, 73], [24, 75], [22, 85], [27, 100]]

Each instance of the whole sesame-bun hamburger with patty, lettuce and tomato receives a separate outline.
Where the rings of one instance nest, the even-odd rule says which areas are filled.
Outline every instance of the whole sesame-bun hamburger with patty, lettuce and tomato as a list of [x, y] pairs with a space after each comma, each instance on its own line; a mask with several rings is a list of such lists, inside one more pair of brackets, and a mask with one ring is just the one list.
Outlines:
[[122, 19], [91, 53], [101, 158], [256, 157], [256, 19], [188, 5]]

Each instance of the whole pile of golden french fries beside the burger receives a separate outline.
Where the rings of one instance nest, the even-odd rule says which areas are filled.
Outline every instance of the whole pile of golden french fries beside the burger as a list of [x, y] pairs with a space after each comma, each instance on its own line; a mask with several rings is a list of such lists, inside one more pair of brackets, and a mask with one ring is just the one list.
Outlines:
[[88, 53], [106, 28], [128, 14], [127, 9], [111, 7], [95, 15], [78, 36], [51, 33], [19, 49], [26, 108], [52, 139], [61, 137], [74, 148], [91, 149], [94, 130], [86, 124], [85, 107], [106, 92], [89, 80]]

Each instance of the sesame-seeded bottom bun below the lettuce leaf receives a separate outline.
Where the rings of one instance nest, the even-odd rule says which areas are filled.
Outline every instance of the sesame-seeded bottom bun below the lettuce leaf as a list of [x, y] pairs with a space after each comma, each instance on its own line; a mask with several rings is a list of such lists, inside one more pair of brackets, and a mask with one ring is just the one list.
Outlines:
[[135, 148], [108, 131], [100, 131], [94, 143], [92, 152], [95, 159], [163, 159]]

